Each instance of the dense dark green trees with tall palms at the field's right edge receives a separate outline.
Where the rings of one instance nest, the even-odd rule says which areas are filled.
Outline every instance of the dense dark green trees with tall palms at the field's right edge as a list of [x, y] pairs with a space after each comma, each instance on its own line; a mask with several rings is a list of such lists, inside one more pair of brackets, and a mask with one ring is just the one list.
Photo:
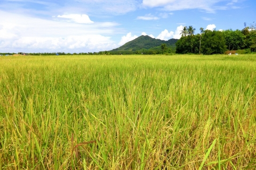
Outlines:
[[[254, 23], [253, 23], [254, 24]], [[227, 50], [239, 50], [241, 53], [256, 52], [256, 24], [242, 30], [204, 30], [195, 35], [192, 26], [183, 27], [181, 38], [176, 43], [179, 54], [223, 54]]]

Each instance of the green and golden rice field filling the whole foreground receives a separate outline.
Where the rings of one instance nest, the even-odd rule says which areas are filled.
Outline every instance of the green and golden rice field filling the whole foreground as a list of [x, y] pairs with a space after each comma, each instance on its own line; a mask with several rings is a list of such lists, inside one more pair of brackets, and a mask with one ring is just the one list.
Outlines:
[[256, 169], [256, 55], [0, 57], [0, 169]]

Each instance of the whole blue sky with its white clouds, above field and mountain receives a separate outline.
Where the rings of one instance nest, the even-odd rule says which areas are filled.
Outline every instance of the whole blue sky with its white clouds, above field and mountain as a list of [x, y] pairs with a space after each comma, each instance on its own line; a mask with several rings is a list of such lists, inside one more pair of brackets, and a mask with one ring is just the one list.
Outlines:
[[192, 25], [243, 29], [255, 0], [0, 0], [0, 53], [99, 52], [141, 35], [168, 40]]

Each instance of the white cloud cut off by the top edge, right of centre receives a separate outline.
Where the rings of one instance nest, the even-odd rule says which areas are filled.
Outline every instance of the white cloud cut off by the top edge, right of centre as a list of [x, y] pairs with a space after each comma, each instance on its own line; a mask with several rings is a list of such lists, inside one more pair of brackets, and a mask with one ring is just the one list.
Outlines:
[[[187, 10], [187, 9], [199, 9], [206, 12], [214, 13], [216, 10], [226, 10], [227, 6], [218, 6], [218, 3], [223, 0], [214, 1], [191, 1], [191, 0], [143, 0], [142, 5], [148, 7], [163, 7], [167, 11]], [[226, 0], [232, 3], [237, 1]]]

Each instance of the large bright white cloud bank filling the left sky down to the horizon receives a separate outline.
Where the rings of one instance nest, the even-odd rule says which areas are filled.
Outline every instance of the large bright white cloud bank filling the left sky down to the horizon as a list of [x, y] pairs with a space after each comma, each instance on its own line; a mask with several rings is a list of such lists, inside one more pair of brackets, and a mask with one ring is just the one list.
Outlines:
[[98, 52], [117, 47], [109, 36], [118, 32], [115, 28], [118, 24], [114, 22], [58, 22], [1, 10], [0, 16], [5, 16], [0, 21], [0, 52], [77, 53]]

